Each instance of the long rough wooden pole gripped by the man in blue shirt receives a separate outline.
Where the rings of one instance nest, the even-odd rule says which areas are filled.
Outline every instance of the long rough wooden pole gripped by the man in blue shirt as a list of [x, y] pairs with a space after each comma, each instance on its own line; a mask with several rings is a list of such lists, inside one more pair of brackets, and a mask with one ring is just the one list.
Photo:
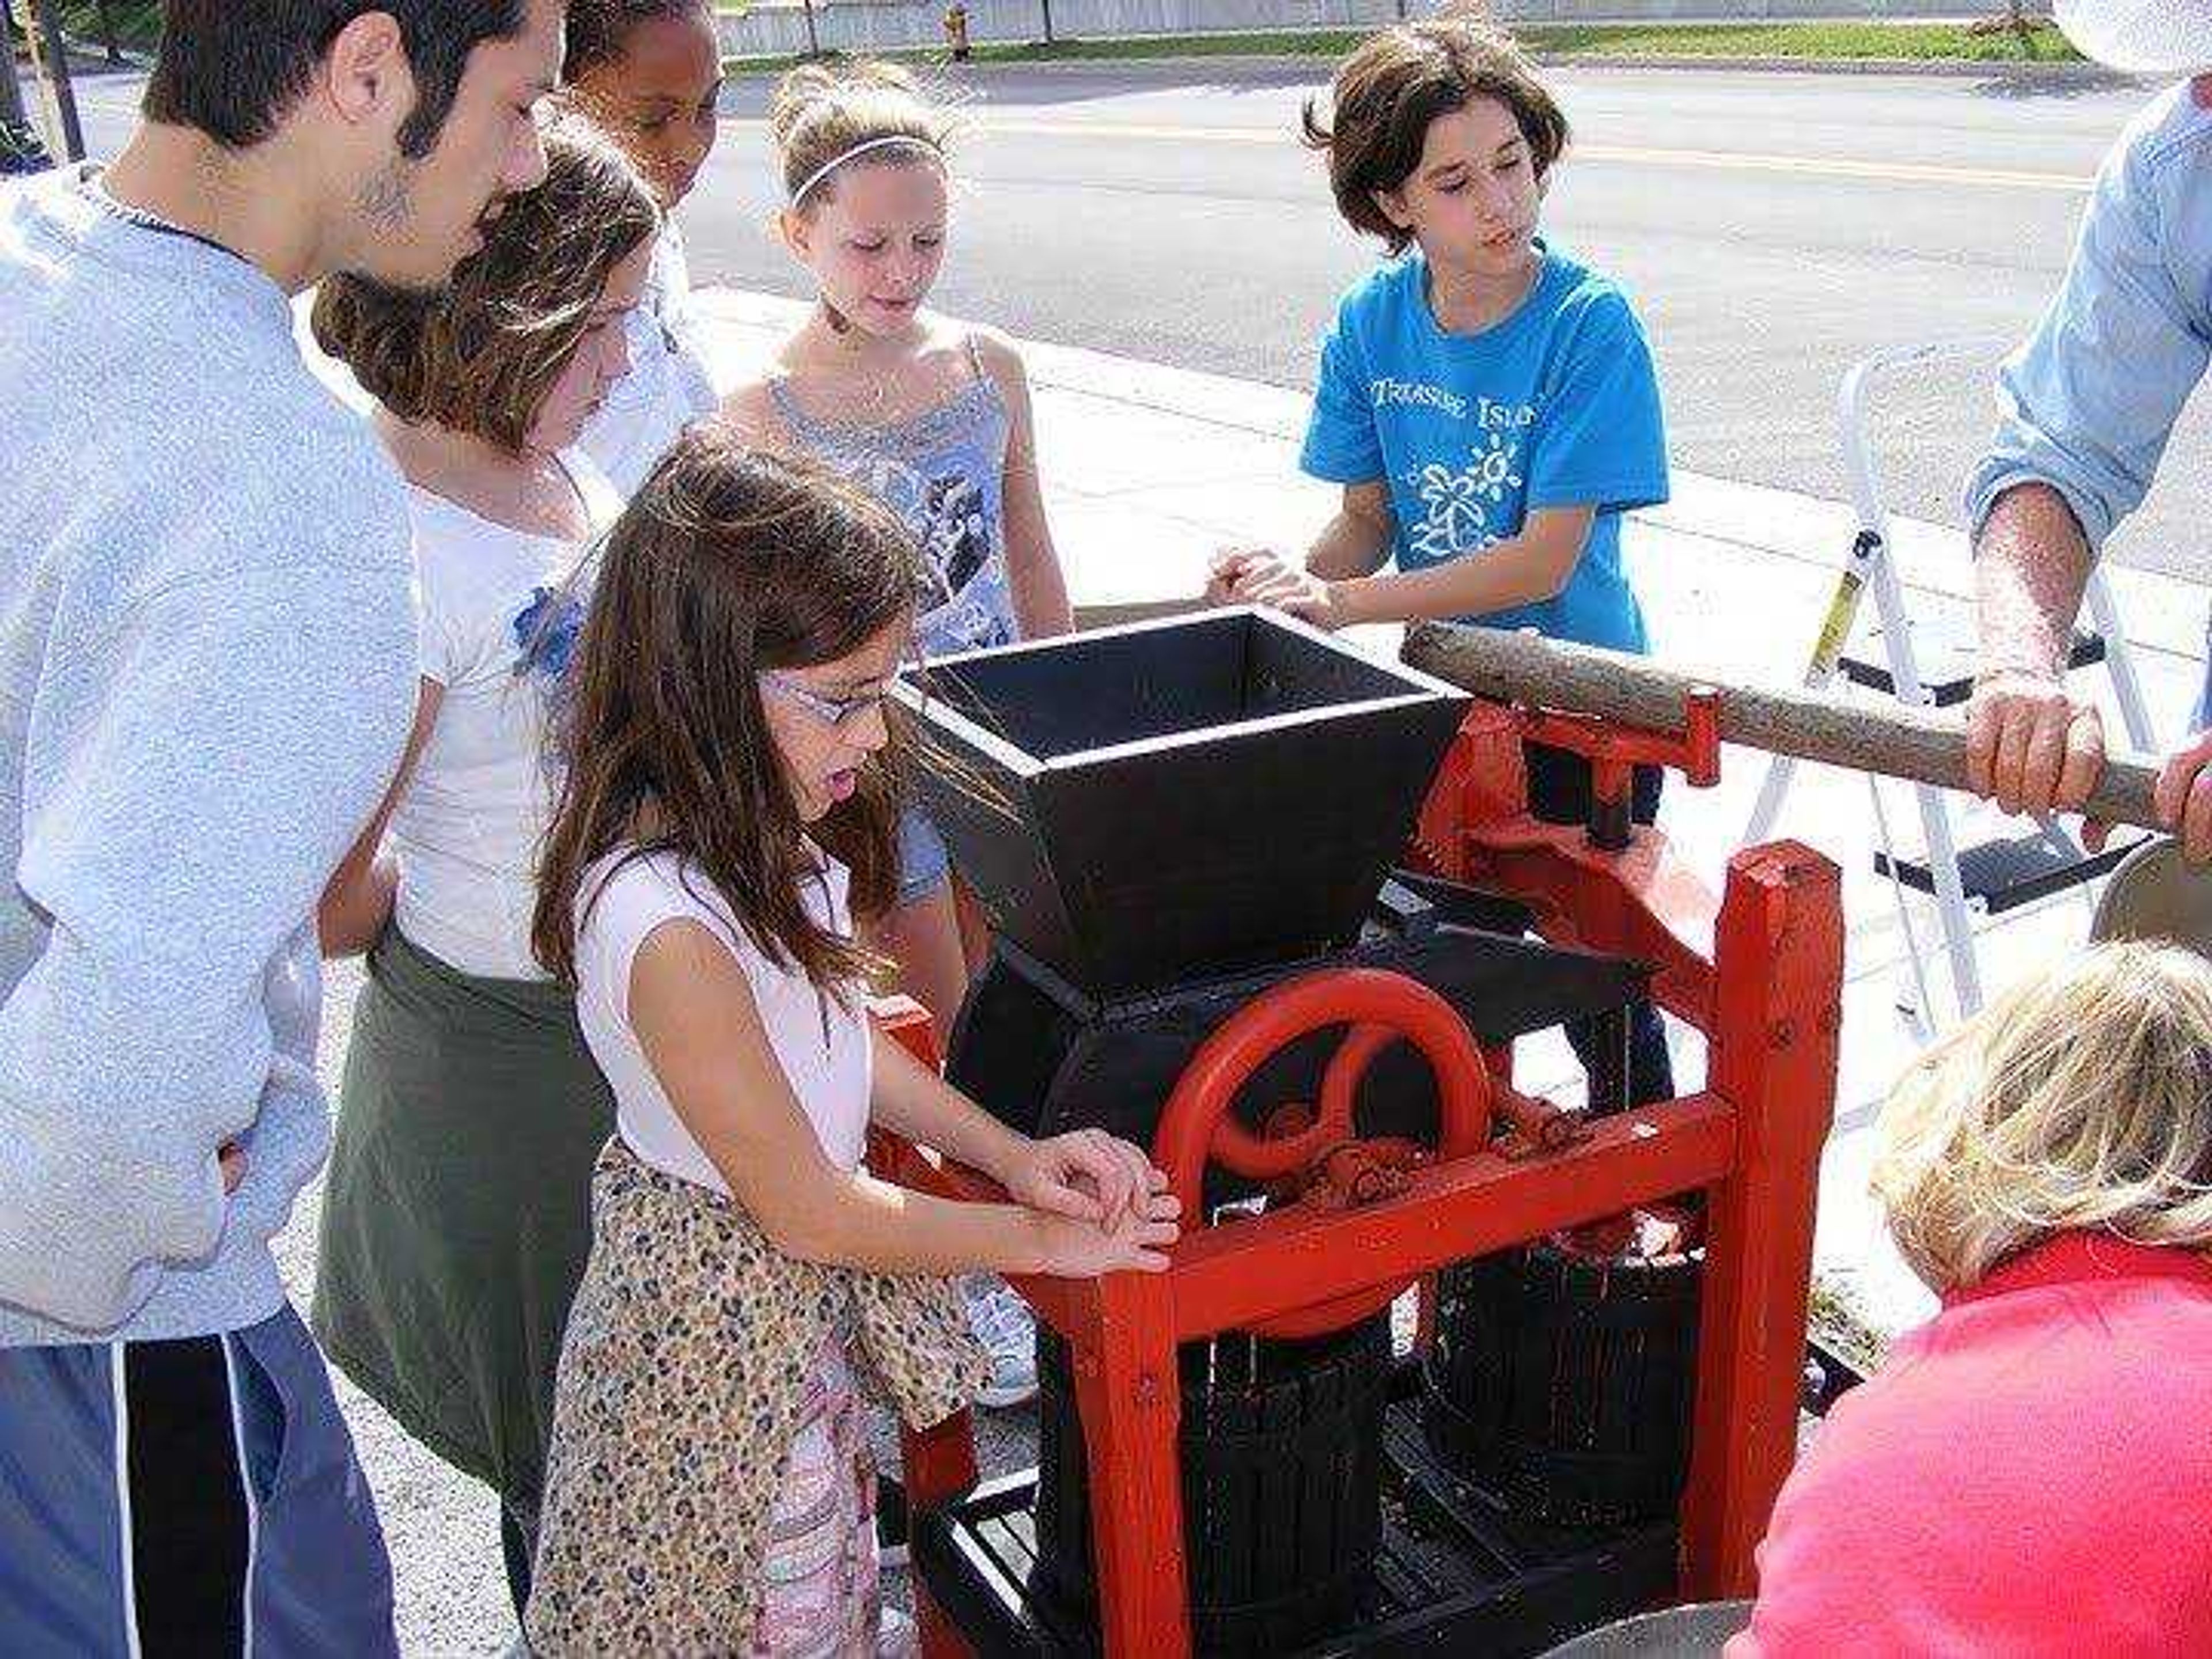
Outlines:
[[[1734, 686], [1663, 668], [1650, 657], [1544, 639], [1533, 633], [1427, 622], [1405, 659], [1480, 697], [1681, 732], [1692, 690], [1721, 692], [1721, 741], [1878, 772], [1938, 790], [1966, 790], [1966, 728], [1953, 714], [1898, 701], [1845, 701], [1816, 690]], [[2106, 823], [2163, 830], [2150, 792], [2159, 768], [2141, 754], [2108, 754], [2081, 812]]]

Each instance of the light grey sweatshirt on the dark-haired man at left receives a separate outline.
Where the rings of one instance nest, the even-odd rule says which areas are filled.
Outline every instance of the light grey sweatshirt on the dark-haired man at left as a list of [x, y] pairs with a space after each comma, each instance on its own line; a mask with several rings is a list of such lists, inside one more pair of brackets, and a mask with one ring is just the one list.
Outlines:
[[0, 1347], [281, 1305], [314, 902], [414, 661], [400, 480], [285, 294], [82, 170], [0, 186]]

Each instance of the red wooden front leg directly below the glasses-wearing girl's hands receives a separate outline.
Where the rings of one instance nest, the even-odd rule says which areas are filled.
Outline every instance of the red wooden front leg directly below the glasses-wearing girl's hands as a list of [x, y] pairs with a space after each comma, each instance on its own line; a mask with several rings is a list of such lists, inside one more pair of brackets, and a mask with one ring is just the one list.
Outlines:
[[1106, 1659], [1175, 1659], [1190, 1652], [1190, 1601], [1177, 1462], [1183, 1396], [1168, 1285], [1152, 1274], [1113, 1274], [1095, 1296], [1097, 1318], [1068, 1340], [1091, 1473], [1099, 1637]]

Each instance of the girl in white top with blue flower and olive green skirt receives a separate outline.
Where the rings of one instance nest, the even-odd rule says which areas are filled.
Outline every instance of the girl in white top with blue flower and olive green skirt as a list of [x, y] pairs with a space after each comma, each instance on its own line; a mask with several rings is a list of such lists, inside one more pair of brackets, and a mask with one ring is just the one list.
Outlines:
[[336, 279], [314, 310], [411, 484], [422, 661], [398, 779], [319, 916], [325, 953], [365, 949], [369, 978], [314, 1327], [409, 1433], [500, 1493], [518, 1608], [613, 1126], [575, 1002], [531, 958], [531, 869], [580, 566], [619, 511], [577, 436], [628, 367], [659, 228], [597, 131], [551, 131], [546, 157], [445, 294]]

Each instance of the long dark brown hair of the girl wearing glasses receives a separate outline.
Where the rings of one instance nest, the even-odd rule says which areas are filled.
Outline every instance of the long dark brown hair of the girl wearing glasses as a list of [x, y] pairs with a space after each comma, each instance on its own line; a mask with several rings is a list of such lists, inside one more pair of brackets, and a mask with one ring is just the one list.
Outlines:
[[615, 847], [699, 865], [752, 945], [843, 995], [874, 958], [805, 907], [812, 838], [852, 905], [898, 894], [905, 732], [805, 825], [761, 708], [763, 668], [858, 650], [914, 613], [914, 540], [827, 467], [748, 449], [719, 420], [668, 451], [608, 533], [557, 721], [560, 801], [538, 865], [531, 949], [575, 982], [584, 872]]

